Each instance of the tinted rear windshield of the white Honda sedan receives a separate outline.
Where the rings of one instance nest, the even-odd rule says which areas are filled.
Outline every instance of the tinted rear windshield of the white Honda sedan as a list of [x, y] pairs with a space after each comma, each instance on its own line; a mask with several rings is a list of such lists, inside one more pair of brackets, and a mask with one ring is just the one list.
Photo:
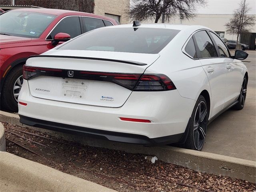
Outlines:
[[180, 30], [160, 28], [101, 28], [71, 40], [58, 49], [156, 54], [178, 32]]

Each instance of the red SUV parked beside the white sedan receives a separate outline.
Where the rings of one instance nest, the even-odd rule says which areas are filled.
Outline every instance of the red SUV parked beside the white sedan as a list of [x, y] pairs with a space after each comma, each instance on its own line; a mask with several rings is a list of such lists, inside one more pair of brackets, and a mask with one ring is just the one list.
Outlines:
[[104, 16], [58, 9], [16, 9], [0, 15], [1, 107], [18, 111], [22, 66], [57, 44], [90, 30], [116, 25]]

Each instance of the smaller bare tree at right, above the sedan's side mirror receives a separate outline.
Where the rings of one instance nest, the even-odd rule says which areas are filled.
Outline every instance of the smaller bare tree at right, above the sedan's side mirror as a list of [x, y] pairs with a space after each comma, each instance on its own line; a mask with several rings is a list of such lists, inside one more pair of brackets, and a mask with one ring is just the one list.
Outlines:
[[249, 4], [246, 3], [246, 0], [241, 0], [239, 7], [234, 10], [233, 17], [225, 24], [226, 31], [229, 34], [236, 34], [236, 49], [238, 45], [238, 38], [241, 33], [250, 32], [252, 26], [255, 24], [255, 16], [248, 15], [250, 11]]

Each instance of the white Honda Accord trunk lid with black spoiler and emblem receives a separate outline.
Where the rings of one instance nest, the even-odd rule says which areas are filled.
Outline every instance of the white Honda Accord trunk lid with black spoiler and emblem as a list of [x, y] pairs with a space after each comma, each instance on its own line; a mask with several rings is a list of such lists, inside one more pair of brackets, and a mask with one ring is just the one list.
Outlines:
[[141, 74], [159, 57], [99, 51], [54, 52], [27, 60], [26, 66], [37, 74], [28, 80], [32, 96], [114, 108], [126, 102]]

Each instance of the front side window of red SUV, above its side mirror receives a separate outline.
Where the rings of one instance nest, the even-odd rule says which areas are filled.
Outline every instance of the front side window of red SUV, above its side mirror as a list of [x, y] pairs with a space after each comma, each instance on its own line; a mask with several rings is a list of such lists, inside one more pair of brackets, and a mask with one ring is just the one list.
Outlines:
[[47, 39], [53, 39], [54, 36], [58, 33], [67, 33], [70, 34], [71, 38], [74, 38], [80, 34], [81, 26], [79, 17], [66, 17], [54, 28], [54, 30], [50, 33]]

